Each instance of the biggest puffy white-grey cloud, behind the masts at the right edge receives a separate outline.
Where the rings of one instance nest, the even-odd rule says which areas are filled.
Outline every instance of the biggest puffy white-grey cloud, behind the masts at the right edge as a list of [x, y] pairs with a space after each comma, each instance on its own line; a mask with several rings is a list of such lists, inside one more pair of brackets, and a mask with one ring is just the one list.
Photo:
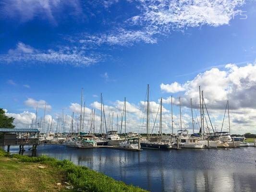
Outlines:
[[[229, 100], [233, 133], [253, 132], [255, 127], [253, 119], [256, 117], [255, 74], [255, 64], [247, 64], [242, 67], [238, 67], [235, 64], [227, 64], [224, 70], [213, 68], [199, 73], [193, 80], [181, 84], [185, 89], [182, 96], [182, 106], [185, 106], [183, 110], [189, 113], [190, 98], [193, 98], [193, 108], [198, 108], [198, 86], [201, 85], [210, 117], [219, 131], [226, 102]], [[163, 102], [170, 104], [171, 97], [163, 100]], [[179, 105], [178, 99], [173, 98], [173, 103]], [[224, 127], [226, 130], [228, 127], [227, 122]]]

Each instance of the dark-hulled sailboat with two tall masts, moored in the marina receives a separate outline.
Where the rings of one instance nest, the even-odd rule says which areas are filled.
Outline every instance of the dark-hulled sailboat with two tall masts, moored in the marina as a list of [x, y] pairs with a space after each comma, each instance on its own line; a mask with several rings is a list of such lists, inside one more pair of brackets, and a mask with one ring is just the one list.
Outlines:
[[162, 136], [162, 98], [160, 101], [159, 137], [149, 138], [149, 84], [147, 85], [147, 113], [146, 113], [146, 140], [141, 141], [141, 148], [145, 149], [171, 149], [170, 142], [161, 141]]

